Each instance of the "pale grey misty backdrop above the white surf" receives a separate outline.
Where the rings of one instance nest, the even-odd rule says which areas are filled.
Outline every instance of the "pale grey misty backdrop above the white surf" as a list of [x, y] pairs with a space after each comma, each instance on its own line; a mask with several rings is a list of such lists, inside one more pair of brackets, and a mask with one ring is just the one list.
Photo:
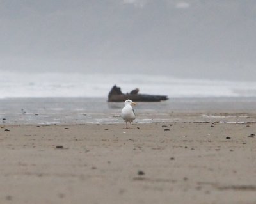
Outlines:
[[254, 80], [254, 0], [0, 0], [0, 69]]

